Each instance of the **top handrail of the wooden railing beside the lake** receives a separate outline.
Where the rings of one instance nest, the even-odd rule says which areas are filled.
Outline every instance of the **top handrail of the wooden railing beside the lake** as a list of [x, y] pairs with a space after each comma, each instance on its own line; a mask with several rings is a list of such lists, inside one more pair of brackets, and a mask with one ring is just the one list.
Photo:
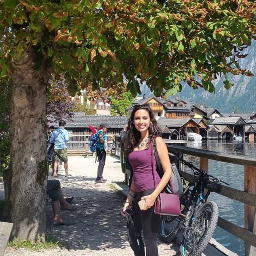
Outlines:
[[220, 162], [256, 167], [255, 158], [249, 158], [241, 155], [236, 156], [235, 154], [223, 154], [223, 153], [210, 151], [210, 150], [201, 150], [197, 148], [187, 148], [187, 147], [173, 146], [168, 144], [167, 144], [167, 148], [169, 152], [183, 153], [191, 156], [208, 158], [208, 159], [212, 159]]

